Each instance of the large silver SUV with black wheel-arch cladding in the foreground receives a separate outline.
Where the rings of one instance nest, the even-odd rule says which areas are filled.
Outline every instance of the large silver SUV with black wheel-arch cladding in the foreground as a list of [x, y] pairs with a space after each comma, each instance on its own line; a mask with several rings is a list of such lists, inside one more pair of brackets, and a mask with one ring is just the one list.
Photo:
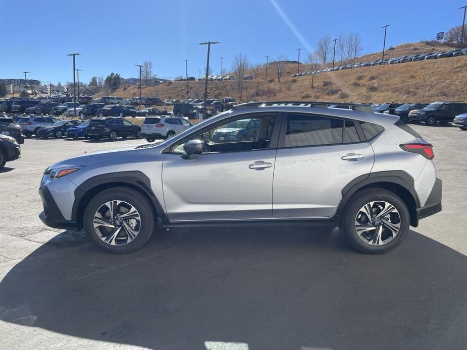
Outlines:
[[235, 225], [340, 226], [360, 251], [390, 251], [441, 210], [432, 145], [348, 108], [245, 103], [159, 144], [65, 159], [44, 171], [39, 217], [117, 254], [157, 226]]

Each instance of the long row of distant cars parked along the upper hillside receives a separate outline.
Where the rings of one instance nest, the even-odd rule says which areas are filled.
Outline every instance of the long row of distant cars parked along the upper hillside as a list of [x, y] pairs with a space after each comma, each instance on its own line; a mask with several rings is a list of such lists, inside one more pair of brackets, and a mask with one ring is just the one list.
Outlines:
[[425, 60], [436, 60], [436, 59], [443, 59], [446, 57], [456, 57], [456, 56], [462, 56], [462, 55], [467, 55], [467, 48], [411, 54], [411, 55], [406, 55], [406, 56], [392, 57], [390, 59], [385, 59], [384, 61], [374, 60], [374, 61], [367, 61], [367, 62], [352, 63], [352, 64], [342, 65], [342, 66], [338, 66], [334, 68], [326, 68], [326, 69], [322, 69], [318, 71], [301, 72], [301, 73], [293, 74], [292, 77], [301, 77], [303, 75], [313, 75], [313, 74], [319, 74], [319, 73], [341, 71], [344, 69], [352, 69], [352, 68], [393, 65], [397, 63], [417, 62], [417, 61], [425, 61]]

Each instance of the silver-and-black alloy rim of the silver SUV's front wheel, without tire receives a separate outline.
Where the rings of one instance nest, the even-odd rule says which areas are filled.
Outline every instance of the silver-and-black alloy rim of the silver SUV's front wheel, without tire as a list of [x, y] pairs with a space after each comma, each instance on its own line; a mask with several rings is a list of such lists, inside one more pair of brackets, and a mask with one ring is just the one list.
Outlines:
[[97, 237], [111, 246], [133, 241], [141, 229], [141, 216], [130, 203], [113, 200], [102, 204], [94, 214]]

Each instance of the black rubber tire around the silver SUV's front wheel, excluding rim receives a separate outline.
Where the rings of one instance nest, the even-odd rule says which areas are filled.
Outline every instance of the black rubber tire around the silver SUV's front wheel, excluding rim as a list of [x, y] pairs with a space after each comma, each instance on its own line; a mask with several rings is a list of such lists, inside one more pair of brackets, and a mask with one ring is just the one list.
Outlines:
[[[132, 205], [141, 218], [139, 232], [133, 241], [123, 245], [110, 245], [103, 242], [94, 230], [94, 215], [106, 202], [124, 201]], [[151, 203], [140, 192], [127, 187], [114, 187], [104, 190], [92, 198], [86, 206], [83, 227], [89, 239], [101, 250], [112, 254], [133, 253], [146, 244], [155, 228], [156, 217]]]

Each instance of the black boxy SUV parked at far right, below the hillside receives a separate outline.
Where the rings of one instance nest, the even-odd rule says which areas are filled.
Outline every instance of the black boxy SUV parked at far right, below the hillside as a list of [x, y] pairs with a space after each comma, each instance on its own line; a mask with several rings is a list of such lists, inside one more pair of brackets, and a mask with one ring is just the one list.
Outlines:
[[436, 122], [448, 124], [454, 121], [458, 114], [467, 112], [467, 103], [457, 101], [436, 101], [430, 103], [423, 109], [414, 113], [409, 113], [410, 121], [413, 123], [423, 122], [433, 126]]

